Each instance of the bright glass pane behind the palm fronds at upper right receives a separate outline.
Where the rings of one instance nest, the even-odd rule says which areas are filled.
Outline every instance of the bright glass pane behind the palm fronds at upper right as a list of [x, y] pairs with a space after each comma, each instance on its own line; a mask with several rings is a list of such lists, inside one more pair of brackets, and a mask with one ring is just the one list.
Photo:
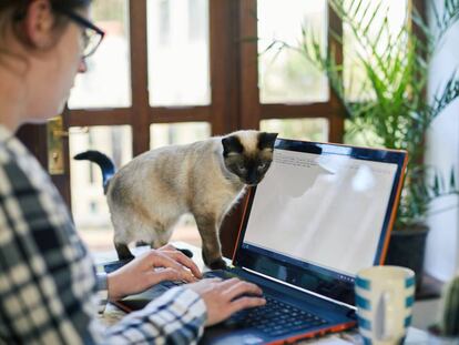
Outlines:
[[[361, 3], [357, 14], [355, 14], [356, 18], [359, 18], [358, 24], [365, 27], [371, 20], [373, 14], [376, 13], [376, 16], [368, 28], [368, 35], [357, 38], [348, 23], [344, 22], [343, 24], [344, 83], [346, 97], [351, 101], [361, 101], [375, 97], [374, 92], [370, 91], [371, 87], [368, 88], [367, 73], [360, 59], [365, 59], [378, 77], [382, 77], [382, 73], [387, 73], [391, 68], [397, 68], [388, 63], [391, 58], [387, 54], [394, 54], [396, 51], [404, 53], [401, 47], [407, 44], [406, 37], [399, 35], [400, 28], [406, 20], [407, 0], [360, 0], [358, 3]], [[378, 9], [379, 3], [380, 8]], [[345, 1], [346, 9], [349, 9], [350, 4], [350, 0]], [[387, 22], [385, 22], [386, 20]], [[371, 44], [368, 44], [367, 38]], [[390, 52], [388, 47], [395, 50]], [[375, 58], [373, 48], [375, 48], [376, 54], [382, 58], [382, 69], [387, 69], [385, 72], [378, 67], [379, 62]], [[395, 82], [398, 81], [395, 80]]]

